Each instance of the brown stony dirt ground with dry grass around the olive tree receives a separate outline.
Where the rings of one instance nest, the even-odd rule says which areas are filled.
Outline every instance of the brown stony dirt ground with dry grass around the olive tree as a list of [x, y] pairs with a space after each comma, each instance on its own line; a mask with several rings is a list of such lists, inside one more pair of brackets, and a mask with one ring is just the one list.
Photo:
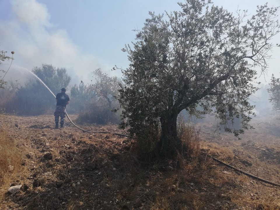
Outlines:
[[[9, 185], [0, 185], [0, 209], [280, 209], [279, 187], [209, 156], [148, 164], [137, 159], [133, 141], [126, 137], [82, 132], [67, 119], [65, 128], [53, 129], [53, 121], [52, 115], [0, 115], [0, 126], [20, 148], [25, 171]], [[255, 129], [239, 140], [216, 131], [216, 122], [206, 119], [196, 125], [200, 149], [280, 183], [280, 117], [257, 118], [251, 124]], [[115, 125], [81, 127], [122, 133]], [[179, 161], [185, 168], [178, 169]], [[19, 192], [7, 193], [20, 184]]]

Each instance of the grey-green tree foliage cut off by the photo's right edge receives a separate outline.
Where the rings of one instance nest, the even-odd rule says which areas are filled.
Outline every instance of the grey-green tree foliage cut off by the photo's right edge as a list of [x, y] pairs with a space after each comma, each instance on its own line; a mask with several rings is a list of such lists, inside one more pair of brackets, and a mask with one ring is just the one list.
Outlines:
[[275, 78], [273, 74], [267, 91], [269, 92], [269, 102], [272, 103], [272, 108], [280, 112], [280, 79]]

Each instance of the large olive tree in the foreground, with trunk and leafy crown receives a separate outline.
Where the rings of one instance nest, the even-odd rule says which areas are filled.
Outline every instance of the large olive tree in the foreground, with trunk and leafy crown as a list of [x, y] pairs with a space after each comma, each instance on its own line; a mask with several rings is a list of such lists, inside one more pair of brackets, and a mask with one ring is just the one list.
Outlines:
[[[248, 20], [246, 11], [234, 16], [210, 1], [179, 5], [182, 10], [167, 14], [167, 20], [150, 13], [133, 48], [123, 49], [131, 63], [122, 70], [125, 85], [119, 89], [121, 127], [138, 139], [160, 129], [155, 144], [163, 155], [181, 148], [177, 116], [183, 109], [197, 115], [215, 112], [235, 136], [251, 128], [255, 113], [248, 97], [258, 89], [252, 83], [255, 67], [266, 71], [271, 39], [279, 32], [278, 8], [267, 4]], [[234, 118], [242, 119], [243, 129], [226, 126]]]

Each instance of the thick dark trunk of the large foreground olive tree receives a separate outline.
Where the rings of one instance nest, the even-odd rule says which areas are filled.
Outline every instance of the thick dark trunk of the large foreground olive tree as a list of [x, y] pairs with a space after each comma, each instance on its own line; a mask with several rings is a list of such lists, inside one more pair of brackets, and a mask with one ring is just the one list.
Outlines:
[[171, 157], [181, 145], [177, 136], [177, 112], [162, 115], [160, 117], [162, 135], [157, 145], [157, 152], [160, 156]]

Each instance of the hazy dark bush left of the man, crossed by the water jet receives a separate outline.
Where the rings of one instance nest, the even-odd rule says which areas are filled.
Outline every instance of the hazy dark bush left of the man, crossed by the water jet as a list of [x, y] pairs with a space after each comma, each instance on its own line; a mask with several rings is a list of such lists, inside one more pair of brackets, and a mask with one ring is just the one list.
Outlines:
[[[67, 87], [71, 77], [65, 68], [55, 68], [50, 64], [42, 64], [32, 70], [50, 90], [56, 94], [62, 87]], [[37, 79], [31, 78], [24, 86], [18, 88], [15, 97], [6, 107], [8, 112], [15, 111], [19, 115], [40, 115], [53, 113], [55, 97]]]

